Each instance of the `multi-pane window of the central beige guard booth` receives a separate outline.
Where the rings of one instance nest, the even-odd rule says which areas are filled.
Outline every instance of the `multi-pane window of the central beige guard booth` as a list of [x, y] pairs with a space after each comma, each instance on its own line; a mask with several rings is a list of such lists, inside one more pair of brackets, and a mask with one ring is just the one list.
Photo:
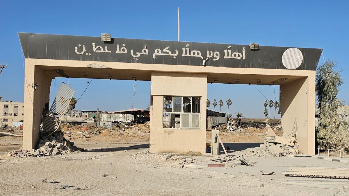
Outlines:
[[162, 127], [200, 128], [200, 97], [164, 96]]

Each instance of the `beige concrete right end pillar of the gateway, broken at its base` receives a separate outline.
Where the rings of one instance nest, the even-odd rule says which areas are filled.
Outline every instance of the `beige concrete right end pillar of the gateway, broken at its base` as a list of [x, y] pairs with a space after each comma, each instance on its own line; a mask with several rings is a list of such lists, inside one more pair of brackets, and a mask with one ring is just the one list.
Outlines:
[[283, 136], [291, 134], [296, 121], [300, 152], [315, 154], [315, 71], [280, 85], [280, 112]]

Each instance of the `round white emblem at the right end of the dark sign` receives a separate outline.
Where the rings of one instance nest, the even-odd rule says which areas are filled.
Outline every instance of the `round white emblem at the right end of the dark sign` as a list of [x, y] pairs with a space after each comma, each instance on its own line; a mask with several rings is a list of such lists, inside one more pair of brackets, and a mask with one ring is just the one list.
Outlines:
[[287, 69], [296, 69], [303, 62], [303, 54], [298, 48], [288, 48], [282, 55], [282, 64]]

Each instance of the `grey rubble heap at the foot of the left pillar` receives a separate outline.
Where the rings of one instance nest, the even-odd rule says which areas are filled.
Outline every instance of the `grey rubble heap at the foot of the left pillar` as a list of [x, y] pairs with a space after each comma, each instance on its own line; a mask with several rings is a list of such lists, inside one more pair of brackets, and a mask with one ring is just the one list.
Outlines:
[[75, 151], [80, 152], [81, 150], [74, 145], [74, 142], [70, 142], [69, 140], [64, 138], [61, 131], [56, 131], [51, 134], [41, 134], [41, 138], [42, 139], [40, 139], [37, 149], [28, 151], [22, 150], [22, 148], [20, 148], [18, 150], [7, 153], [7, 156], [15, 158], [40, 157], [56, 154], [69, 154]]

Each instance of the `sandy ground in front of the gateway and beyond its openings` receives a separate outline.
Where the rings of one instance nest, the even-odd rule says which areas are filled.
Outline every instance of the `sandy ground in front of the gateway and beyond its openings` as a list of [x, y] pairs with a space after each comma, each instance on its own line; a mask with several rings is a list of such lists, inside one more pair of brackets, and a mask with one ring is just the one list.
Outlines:
[[[79, 129], [75, 132], [79, 132]], [[115, 135], [114, 132], [111, 131], [111, 134]], [[224, 138], [251, 136], [246, 133], [248, 132], [243, 135], [229, 135], [229, 132], [222, 132], [222, 135], [227, 135]], [[208, 138], [209, 134], [208, 131]], [[286, 180], [306, 179], [283, 176], [282, 171], [289, 167], [348, 168], [349, 165], [344, 163], [313, 158], [248, 157], [253, 167], [227, 165], [178, 168], [176, 161], [164, 161], [161, 154], [145, 153], [135, 156], [137, 152], [149, 148], [149, 142], [143, 141], [144, 135], [123, 138], [94, 136], [93, 140], [75, 135], [78, 134], [70, 136], [72, 141], [86, 151], [28, 158], [4, 157], [6, 152], [20, 148], [22, 141], [20, 137], [1, 136], [0, 155], [7, 162], [0, 163], [0, 195], [349, 195], [345, 190], [307, 188], [281, 183]], [[256, 138], [259, 137], [263, 136]], [[233, 143], [227, 141], [228, 139], [225, 146], [233, 149], [229, 151], [231, 155], [260, 144], [259, 139]], [[89, 159], [94, 156], [97, 159]], [[194, 158], [194, 163], [213, 163], [209, 161], [209, 154]], [[274, 171], [275, 174], [262, 176], [260, 170]], [[103, 174], [117, 178], [102, 177]], [[58, 183], [44, 183], [43, 179], [54, 179]], [[349, 180], [343, 179], [342, 184], [348, 188]], [[60, 189], [60, 185], [82, 189]]]

